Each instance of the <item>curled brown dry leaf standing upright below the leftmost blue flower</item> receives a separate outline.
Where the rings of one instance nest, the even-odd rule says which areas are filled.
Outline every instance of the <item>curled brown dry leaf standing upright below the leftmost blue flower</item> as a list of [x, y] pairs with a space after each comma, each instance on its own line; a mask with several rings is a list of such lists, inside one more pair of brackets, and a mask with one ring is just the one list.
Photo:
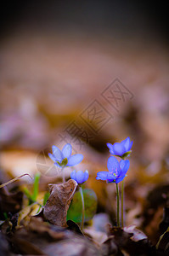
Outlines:
[[70, 201], [76, 191], [77, 183], [70, 179], [63, 184], [48, 184], [50, 196], [43, 209], [43, 216], [51, 224], [65, 227]]

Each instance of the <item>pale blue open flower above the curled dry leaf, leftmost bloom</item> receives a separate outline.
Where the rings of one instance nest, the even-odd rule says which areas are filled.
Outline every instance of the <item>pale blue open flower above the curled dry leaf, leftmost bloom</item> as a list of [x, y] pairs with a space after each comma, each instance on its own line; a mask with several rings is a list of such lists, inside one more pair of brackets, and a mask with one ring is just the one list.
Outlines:
[[82, 154], [73, 154], [70, 143], [66, 144], [62, 150], [56, 146], [52, 146], [53, 154], [48, 153], [55, 166], [76, 166], [83, 160]]

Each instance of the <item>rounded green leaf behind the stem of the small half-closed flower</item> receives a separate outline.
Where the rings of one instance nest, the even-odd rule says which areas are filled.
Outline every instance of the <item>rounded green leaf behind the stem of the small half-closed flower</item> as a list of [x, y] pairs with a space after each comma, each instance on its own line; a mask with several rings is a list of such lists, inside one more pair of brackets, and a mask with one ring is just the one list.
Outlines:
[[[93, 218], [97, 210], [97, 195], [93, 189], [82, 189], [84, 195], [85, 204], [85, 221]], [[76, 191], [73, 196], [73, 200], [70, 203], [69, 210], [67, 212], [67, 220], [73, 220], [76, 223], [82, 221], [82, 198], [80, 191]]]

